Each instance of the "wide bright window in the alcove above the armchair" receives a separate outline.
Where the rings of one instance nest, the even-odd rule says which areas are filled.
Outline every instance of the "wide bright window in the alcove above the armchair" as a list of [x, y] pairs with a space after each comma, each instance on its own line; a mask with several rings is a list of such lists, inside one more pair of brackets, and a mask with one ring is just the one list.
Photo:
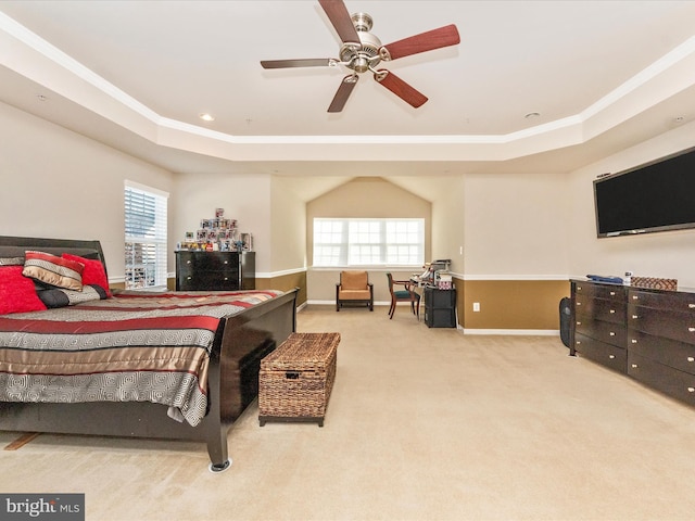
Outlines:
[[314, 266], [421, 266], [425, 219], [314, 219]]

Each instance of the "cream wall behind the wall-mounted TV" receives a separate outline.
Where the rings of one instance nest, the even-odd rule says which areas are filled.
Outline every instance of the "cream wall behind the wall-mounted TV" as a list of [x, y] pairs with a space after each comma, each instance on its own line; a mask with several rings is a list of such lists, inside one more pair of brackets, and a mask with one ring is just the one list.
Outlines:
[[571, 275], [622, 276], [630, 270], [642, 277], [674, 278], [680, 288], [695, 288], [695, 230], [597, 239], [593, 194], [597, 175], [632, 168], [692, 148], [694, 142], [695, 123], [691, 123], [572, 173]]

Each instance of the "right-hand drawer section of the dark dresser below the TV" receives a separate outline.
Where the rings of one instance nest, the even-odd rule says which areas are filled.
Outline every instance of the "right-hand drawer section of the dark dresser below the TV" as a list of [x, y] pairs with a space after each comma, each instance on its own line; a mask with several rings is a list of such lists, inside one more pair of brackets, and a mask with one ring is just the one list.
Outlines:
[[628, 374], [695, 405], [695, 290], [628, 291]]

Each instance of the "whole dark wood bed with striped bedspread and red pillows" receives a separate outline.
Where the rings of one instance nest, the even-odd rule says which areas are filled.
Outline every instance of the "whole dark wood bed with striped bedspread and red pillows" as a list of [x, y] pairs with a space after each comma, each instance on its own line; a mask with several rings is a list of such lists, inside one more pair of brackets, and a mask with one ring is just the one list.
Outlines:
[[[84, 287], [65, 288], [79, 269]], [[14, 297], [20, 270], [45, 308]], [[226, 470], [261, 359], [295, 331], [298, 290], [108, 285], [99, 241], [0, 237], [0, 430], [200, 441]]]

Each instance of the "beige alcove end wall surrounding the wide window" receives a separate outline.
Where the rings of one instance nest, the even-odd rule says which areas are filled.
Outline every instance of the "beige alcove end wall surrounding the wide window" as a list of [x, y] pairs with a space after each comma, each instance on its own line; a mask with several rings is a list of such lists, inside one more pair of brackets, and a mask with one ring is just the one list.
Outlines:
[[[431, 255], [431, 203], [380, 177], [359, 177], [306, 204], [307, 295], [312, 302], [336, 302], [336, 282], [340, 269], [312, 268], [313, 223], [316, 217], [421, 217], [425, 219], [425, 258]], [[394, 277], [407, 277], [420, 267], [393, 270]], [[368, 269], [374, 283], [375, 302], [391, 302], [387, 268]]]

